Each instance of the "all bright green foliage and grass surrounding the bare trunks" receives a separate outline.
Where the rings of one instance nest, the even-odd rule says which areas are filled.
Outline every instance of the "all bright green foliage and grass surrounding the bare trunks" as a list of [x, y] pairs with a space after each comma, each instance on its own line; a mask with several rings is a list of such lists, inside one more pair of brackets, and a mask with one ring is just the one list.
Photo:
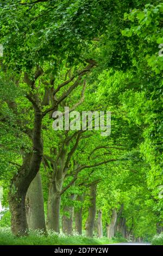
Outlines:
[[[104, 232], [111, 221], [112, 210], [118, 213], [123, 206], [118, 223], [124, 218], [128, 233], [151, 239], [163, 220], [163, 199], [159, 196], [163, 182], [163, 57], [159, 56], [158, 48], [163, 44], [163, 3], [138, 0], [21, 3], [19, 0], [3, 1], [0, 10], [0, 42], [4, 47], [4, 56], [0, 57], [3, 205], [8, 206], [8, 191], [17, 191], [17, 187], [10, 187], [10, 181], [18, 174], [24, 155], [34, 150], [33, 101], [37, 99], [43, 113], [59, 102], [74, 82], [79, 82], [57, 109], [63, 112], [65, 106], [73, 108], [80, 101], [81, 88], [86, 84], [83, 101], [76, 110], [80, 113], [111, 111], [111, 135], [101, 137], [99, 131], [83, 132], [74, 148], [76, 133], [53, 131], [50, 111], [43, 117], [40, 173], [45, 212], [47, 214], [48, 185], [54, 169], [61, 173], [62, 149], [67, 165], [60, 191], [70, 186], [62, 194], [61, 215], [65, 206], [74, 206], [75, 210], [83, 207], [84, 229], [90, 206], [89, 188], [97, 182], [96, 206], [97, 210], [102, 210]], [[85, 71], [88, 60], [95, 60], [95, 66]], [[40, 70], [41, 75], [37, 77]], [[79, 70], [84, 70], [84, 76], [79, 76]], [[31, 81], [34, 81], [32, 86]], [[44, 106], [46, 91], [50, 92], [50, 99]], [[110, 159], [114, 161], [96, 166]], [[77, 166], [87, 168], [76, 176]], [[84, 199], [71, 200], [71, 194], [83, 195]], [[0, 226], [8, 227], [10, 212], [2, 215]], [[65, 215], [69, 217], [68, 212]], [[1, 244], [112, 242], [105, 238], [56, 234], [48, 237], [30, 234], [17, 239], [9, 231], [1, 229], [0, 233]], [[155, 236], [152, 243], [161, 244], [161, 239], [162, 234]], [[114, 241], [117, 240], [124, 241], [121, 233], [116, 234]]]

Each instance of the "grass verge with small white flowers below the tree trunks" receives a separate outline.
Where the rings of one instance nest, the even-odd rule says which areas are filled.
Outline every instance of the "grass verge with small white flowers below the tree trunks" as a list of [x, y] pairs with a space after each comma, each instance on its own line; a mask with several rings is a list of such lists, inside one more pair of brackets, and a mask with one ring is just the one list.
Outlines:
[[9, 229], [0, 229], [0, 245], [106, 245], [118, 242], [116, 240], [103, 237], [88, 238], [85, 236], [65, 236], [50, 232], [48, 236], [42, 235], [36, 231], [30, 231], [28, 236], [15, 237]]

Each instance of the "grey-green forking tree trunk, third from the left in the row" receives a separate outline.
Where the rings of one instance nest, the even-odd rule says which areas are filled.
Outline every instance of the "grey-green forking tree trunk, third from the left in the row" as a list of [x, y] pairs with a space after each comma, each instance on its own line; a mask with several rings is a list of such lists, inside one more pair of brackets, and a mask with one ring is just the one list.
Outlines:
[[47, 229], [60, 233], [60, 192], [51, 183], [49, 185], [49, 196], [47, 203]]

